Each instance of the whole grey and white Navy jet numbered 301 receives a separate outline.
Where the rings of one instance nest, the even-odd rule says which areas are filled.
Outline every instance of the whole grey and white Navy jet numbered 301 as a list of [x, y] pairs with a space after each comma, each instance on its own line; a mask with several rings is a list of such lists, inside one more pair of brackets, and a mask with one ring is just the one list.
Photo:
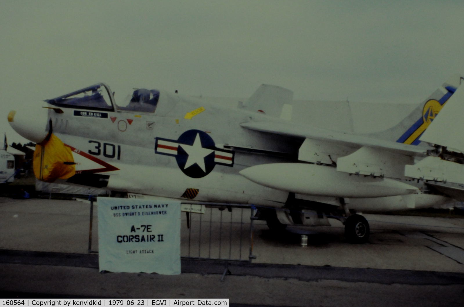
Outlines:
[[146, 89], [116, 105], [108, 85], [98, 83], [11, 111], [8, 121], [38, 144], [40, 180], [192, 204], [252, 204], [276, 228], [329, 225], [332, 217], [345, 224], [349, 241], [365, 242], [369, 225], [356, 212], [451, 201], [405, 168], [436, 153], [419, 137], [461, 80], [451, 78], [398, 125], [374, 134], [291, 122], [293, 93], [271, 85], [233, 110]]

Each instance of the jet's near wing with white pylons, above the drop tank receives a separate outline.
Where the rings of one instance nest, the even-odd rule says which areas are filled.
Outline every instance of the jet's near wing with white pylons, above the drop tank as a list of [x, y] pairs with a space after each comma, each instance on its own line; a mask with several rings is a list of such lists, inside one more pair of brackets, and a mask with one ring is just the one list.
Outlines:
[[290, 122], [245, 122], [240, 126], [301, 138], [303, 143], [298, 150], [298, 160], [334, 165], [342, 173], [401, 179], [405, 176], [405, 166], [414, 164], [414, 157], [427, 154], [426, 147], [308, 128]]

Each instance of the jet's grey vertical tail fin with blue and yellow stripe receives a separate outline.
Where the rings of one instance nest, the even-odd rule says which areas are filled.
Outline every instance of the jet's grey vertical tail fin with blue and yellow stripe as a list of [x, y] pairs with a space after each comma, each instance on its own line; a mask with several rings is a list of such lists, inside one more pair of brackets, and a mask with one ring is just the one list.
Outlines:
[[459, 75], [450, 77], [396, 126], [385, 131], [368, 134], [368, 136], [404, 144], [419, 145], [419, 137], [454, 94], [462, 80], [464, 78]]

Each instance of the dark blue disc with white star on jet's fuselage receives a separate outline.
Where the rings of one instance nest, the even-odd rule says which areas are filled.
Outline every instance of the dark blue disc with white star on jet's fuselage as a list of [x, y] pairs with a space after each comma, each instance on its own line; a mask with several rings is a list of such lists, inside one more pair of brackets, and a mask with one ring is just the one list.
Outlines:
[[215, 144], [201, 130], [188, 130], [179, 136], [175, 157], [180, 170], [189, 177], [201, 178], [213, 171]]

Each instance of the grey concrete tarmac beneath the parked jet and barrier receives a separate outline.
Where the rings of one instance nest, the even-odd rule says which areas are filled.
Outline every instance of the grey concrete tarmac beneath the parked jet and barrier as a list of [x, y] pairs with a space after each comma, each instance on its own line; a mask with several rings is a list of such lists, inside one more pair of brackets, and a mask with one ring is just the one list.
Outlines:
[[[0, 198], [0, 249], [58, 255], [51, 256], [58, 265], [22, 261], [17, 254], [0, 257], [1, 294], [230, 298], [232, 306], [462, 306], [464, 301], [464, 219], [365, 215], [371, 237], [361, 245], [346, 243], [342, 224], [331, 220], [333, 227], [310, 229], [316, 233], [309, 235], [308, 247], [300, 246], [298, 234], [276, 234], [254, 221], [255, 264], [230, 262], [231, 275], [221, 282], [225, 262], [212, 260], [185, 258], [177, 276], [102, 274], [95, 266], [58, 261], [63, 253], [88, 255], [89, 208], [77, 201]], [[189, 229], [182, 217], [182, 256], [248, 260], [249, 210], [206, 211], [201, 227], [200, 215], [193, 214]]]

